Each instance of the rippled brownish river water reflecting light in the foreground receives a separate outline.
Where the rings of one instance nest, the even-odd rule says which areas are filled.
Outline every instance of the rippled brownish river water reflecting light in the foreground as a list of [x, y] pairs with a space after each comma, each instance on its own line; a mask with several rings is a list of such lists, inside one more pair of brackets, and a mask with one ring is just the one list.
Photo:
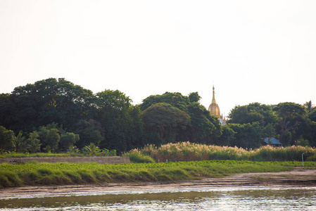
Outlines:
[[0, 198], [0, 210], [316, 210], [316, 187], [48, 193]]

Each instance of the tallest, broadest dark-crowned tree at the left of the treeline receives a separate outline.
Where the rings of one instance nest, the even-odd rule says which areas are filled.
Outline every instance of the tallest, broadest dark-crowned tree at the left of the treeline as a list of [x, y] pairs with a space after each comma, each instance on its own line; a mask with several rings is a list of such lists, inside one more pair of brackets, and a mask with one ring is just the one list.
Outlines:
[[94, 106], [91, 91], [63, 78], [44, 79], [16, 87], [10, 95], [10, 128], [32, 132], [34, 127], [58, 122], [74, 130], [80, 119], [89, 119]]

